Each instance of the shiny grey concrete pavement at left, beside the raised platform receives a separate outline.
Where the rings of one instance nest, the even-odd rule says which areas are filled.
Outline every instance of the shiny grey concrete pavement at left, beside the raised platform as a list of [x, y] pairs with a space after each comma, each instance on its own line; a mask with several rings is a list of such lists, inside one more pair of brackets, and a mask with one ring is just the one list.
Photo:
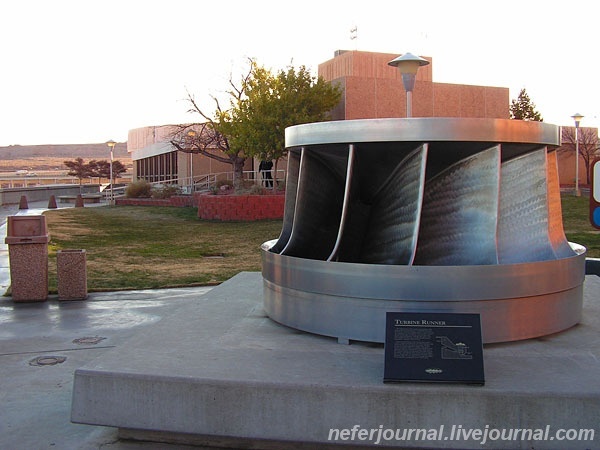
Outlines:
[[[47, 202], [0, 207], [0, 291], [10, 285], [10, 215], [41, 214]], [[90, 207], [86, 205], [85, 207]], [[73, 207], [73, 205], [60, 207]], [[185, 449], [187, 446], [119, 440], [117, 430], [71, 423], [74, 371], [134, 334], [193, 304], [210, 287], [90, 293], [85, 301], [15, 303], [0, 297], [0, 448]]]

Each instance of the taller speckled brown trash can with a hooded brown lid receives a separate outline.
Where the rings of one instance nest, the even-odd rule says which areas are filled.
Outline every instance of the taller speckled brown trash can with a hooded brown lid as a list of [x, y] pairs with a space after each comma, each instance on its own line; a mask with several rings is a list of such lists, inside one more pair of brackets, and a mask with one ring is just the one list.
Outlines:
[[10, 285], [15, 302], [48, 299], [48, 228], [44, 216], [9, 216]]

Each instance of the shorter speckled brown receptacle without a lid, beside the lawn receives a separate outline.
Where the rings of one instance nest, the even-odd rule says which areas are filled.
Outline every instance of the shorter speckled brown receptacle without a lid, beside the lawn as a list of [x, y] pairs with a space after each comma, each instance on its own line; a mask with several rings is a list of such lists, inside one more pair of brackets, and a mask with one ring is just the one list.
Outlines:
[[85, 250], [59, 250], [56, 254], [56, 278], [59, 300], [87, 298]]

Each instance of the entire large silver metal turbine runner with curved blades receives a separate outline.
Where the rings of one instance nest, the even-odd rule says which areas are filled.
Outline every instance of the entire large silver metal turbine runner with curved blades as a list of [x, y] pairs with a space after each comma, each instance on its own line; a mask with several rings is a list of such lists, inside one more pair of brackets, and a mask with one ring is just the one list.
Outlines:
[[387, 311], [481, 315], [485, 343], [579, 322], [585, 248], [567, 242], [541, 122], [410, 118], [286, 129], [283, 229], [262, 245], [273, 320], [383, 342]]

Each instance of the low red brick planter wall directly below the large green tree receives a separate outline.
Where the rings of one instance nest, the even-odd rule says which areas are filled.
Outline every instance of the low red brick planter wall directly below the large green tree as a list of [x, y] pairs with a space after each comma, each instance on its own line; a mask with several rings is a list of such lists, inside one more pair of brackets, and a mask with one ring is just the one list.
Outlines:
[[282, 219], [285, 195], [197, 194], [198, 217], [206, 220]]

